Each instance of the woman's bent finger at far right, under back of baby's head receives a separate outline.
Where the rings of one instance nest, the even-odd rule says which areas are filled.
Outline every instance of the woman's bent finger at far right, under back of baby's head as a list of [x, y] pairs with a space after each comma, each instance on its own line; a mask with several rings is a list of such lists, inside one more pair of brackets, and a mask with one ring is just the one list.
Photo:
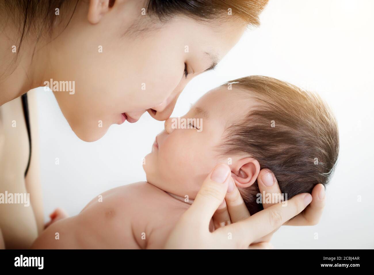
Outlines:
[[303, 213], [289, 220], [285, 225], [316, 225], [319, 222], [325, 207], [325, 186], [321, 183], [317, 184], [312, 190], [312, 197], [312, 202]]

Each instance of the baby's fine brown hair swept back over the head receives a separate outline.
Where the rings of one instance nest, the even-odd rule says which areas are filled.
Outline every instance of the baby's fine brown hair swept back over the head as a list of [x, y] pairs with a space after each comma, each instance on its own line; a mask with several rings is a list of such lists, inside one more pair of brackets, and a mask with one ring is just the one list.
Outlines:
[[[257, 104], [248, 114], [227, 127], [220, 153], [249, 154], [261, 169], [269, 168], [287, 199], [311, 193], [328, 183], [339, 152], [335, 117], [316, 94], [266, 76], [249, 76], [226, 83], [244, 92]], [[262, 210], [257, 203], [257, 180], [240, 189], [252, 214]]]

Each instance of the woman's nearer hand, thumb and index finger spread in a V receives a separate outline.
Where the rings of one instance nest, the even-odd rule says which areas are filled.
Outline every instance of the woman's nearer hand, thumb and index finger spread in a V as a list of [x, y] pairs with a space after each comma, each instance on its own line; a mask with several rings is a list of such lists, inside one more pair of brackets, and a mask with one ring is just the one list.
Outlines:
[[287, 205], [275, 204], [253, 216], [209, 232], [209, 223], [223, 202], [230, 168], [219, 164], [205, 179], [190, 208], [182, 215], [166, 241], [165, 248], [248, 248], [283, 223], [299, 214], [312, 201], [307, 193], [288, 200]]

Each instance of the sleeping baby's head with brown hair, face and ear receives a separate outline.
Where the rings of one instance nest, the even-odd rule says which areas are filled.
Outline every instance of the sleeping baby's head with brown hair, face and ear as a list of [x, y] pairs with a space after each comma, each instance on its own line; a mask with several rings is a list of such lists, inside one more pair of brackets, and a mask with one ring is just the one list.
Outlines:
[[228, 164], [250, 211], [262, 168], [287, 198], [327, 184], [339, 149], [337, 123], [317, 95], [271, 77], [250, 76], [209, 91], [178, 119], [169, 118], [143, 165], [147, 181], [195, 198], [203, 180]]

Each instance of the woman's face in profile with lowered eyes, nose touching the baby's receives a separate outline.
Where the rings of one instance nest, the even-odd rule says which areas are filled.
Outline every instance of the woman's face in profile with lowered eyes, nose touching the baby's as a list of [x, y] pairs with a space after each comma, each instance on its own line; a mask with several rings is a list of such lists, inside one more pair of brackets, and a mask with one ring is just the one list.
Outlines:
[[74, 81], [74, 93], [54, 94], [84, 141], [98, 140], [126, 117], [136, 122], [145, 111], [168, 119], [186, 84], [220, 61], [245, 30], [236, 21], [184, 16], [161, 24], [142, 15], [139, 2], [116, 1], [95, 24], [87, 19], [88, 4], [79, 2], [66, 30], [48, 46], [54, 54], [43, 81]]

